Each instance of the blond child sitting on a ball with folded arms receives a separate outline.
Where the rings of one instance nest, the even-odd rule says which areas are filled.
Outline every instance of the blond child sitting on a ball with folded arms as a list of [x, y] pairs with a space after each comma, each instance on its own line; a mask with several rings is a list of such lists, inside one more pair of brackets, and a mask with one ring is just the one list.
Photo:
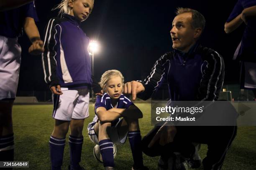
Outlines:
[[114, 169], [113, 143], [123, 144], [128, 136], [134, 162], [132, 170], [148, 170], [143, 166], [138, 124], [138, 118], [143, 115], [141, 110], [122, 94], [123, 75], [118, 70], [108, 70], [102, 75], [99, 84], [105, 93], [102, 96], [97, 95], [95, 117], [88, 125], [88, 134], [93, 143], [100, 145], [105, 169]]

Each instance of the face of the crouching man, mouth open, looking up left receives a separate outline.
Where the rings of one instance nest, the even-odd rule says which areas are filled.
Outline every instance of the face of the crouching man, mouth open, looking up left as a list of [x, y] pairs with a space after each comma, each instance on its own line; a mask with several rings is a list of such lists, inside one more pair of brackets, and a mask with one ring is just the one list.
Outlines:
[[172, 22], [172, 47], [182, 52], [188, 52], [195, 43], [195, 29], [192, 28], [192, 13], [177, 15]]

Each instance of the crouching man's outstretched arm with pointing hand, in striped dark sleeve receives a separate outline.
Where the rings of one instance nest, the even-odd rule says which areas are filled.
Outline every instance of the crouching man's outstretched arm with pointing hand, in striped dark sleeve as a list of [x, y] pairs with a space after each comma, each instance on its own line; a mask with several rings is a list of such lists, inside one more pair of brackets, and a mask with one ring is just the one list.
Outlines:
[[143, 100], [149, 99], [154, 92], [161, 86], [165, 80], [165, 64], [167, 62], [168, 53], [164, 54], [156, 61], [151, 73], [144, 81], [127, 82], [124, 85], [124, 93], [132, 94], [132, 99], [136, 100], [137, 94]]

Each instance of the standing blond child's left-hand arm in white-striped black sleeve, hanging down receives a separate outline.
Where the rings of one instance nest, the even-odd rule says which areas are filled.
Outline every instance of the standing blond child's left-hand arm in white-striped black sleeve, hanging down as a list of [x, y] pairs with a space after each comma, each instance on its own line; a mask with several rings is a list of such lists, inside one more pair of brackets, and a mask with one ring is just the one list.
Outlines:
[[[42, 62], [44, 69], [44, 80], [49, 85], [50, 90], [53, 94], [62, 95], [59, 79], [56, 73], [56, 54], [59, 47], [59, 43], [56, 43], [55, 35], [58, 32], [56, 26], [57, 18], [49, 20], [45, 28], [44, 37], [44, 52], [42, 53]], [[56, 90], [58, 89], [58, 90]]]

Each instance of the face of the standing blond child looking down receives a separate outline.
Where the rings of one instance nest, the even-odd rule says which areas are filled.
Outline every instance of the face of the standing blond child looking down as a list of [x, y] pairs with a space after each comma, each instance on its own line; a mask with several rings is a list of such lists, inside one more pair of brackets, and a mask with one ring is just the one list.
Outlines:
[[86, 20], [93, 8], [93, 0], [74, 0], [69, 3], [72, 7], [73, 14], [80, 21]]

